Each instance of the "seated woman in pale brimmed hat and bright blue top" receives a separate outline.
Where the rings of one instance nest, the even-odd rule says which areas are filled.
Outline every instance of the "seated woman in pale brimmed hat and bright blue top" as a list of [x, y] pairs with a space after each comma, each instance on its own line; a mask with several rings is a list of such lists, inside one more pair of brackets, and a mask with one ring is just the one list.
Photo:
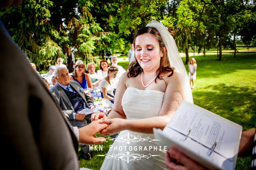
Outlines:
[[74, 68], [75, 70], [69, 79], [78, 82], [83, 90], [93, 89], [90, 76], [87, 73], [84, 73], [84, 62], [82, 60], [77, 60]]

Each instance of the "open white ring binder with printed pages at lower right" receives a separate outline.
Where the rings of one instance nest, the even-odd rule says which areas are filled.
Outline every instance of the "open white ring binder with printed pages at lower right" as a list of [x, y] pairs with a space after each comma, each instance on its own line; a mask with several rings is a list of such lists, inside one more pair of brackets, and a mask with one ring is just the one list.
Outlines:
[[164, 130], [153, 129], [156, 143], [176, 148], [210, 169], [235, 169], [242, 126], [183, 101]]

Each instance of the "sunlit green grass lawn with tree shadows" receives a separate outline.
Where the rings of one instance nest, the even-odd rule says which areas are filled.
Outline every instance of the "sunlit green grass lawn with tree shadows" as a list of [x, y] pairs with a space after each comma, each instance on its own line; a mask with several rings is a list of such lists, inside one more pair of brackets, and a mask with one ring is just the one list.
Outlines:
[[[182, 55], [185, 62], [185, 57]], [[193, 56], [193, 53], [190, 53]], [[256, 54], [195, 55], [197, 73], [195, 89], [192, 89], [194, 104], [243, 126], [243, 130], [255, 128], [256, 122]], [[127, 69], [127, 56], [118, 57], [118, 65]], [[188, 72], [188, 65], [185, 65]], [[98, 134], [99, 135], [99, 134]], [[110, 142], [111, 143], [111, 142]], [[80, 167], [100, 169], [108, 152], [109, 142], [103, 151], [92, 151], [92, 160], [80, 159]], [[250, 158], [238, 158], [236, 169], [249, 169]]]

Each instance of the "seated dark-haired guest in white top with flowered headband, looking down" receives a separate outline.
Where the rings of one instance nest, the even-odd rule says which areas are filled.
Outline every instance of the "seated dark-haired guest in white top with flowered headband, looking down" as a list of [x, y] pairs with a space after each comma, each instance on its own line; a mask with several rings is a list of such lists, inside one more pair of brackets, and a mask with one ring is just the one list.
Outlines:
[[116, 74], [118, 72], [118, 68], [116, 66], [111, 65], [108, 69], [107, 77], [103, 78], [99, 83], [99, 87], [101, 88], [102, 97], [110, 100], [114, 103], [114, 89], [116, 88], [116, 83], [114, 78], [116, 78]]

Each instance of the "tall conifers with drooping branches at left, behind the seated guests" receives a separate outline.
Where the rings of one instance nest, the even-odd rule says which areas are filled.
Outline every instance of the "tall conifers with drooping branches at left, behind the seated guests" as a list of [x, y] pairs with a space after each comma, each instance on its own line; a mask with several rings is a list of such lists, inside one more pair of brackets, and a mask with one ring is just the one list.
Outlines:
[[67, 47], [86, 63], [98, 62], [92, 54], [104, 46], [102, 41], [111, 42], [112, 33], [95, 22], [92, 7], [87, 0], [24, 0], [18, 7], [1, 10], [0, 17], [19, 47], [36, 54], [41, 70], [46, 70], [56, 58], [65, 57]]

